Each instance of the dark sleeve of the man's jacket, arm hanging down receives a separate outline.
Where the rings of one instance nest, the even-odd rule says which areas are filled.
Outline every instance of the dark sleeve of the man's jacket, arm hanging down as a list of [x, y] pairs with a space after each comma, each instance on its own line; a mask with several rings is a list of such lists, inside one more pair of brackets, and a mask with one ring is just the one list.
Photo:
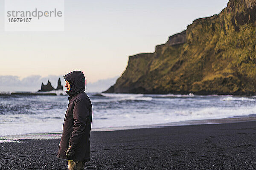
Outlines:
[[89, 111], [83, 99], [77, 99], [73, 108], [74, 127], [71, 133], [69, 145], [76, 147], [86, 128]]

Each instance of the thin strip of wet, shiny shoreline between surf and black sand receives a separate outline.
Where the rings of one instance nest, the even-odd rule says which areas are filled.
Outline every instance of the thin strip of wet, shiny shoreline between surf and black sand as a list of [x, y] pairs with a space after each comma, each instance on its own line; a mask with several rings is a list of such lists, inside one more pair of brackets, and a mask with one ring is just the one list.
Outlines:
[[[220, 119], [202, 119], [202, 120], [189, 120], [180, 122], [171, 122], [165, 124], [156, 125], [141, 125], [141, 126], [124, 126], [124, 127], [106, 127], [106, 128], [95, 128], [92, 132], [108, 132], [117, 130], [135, 130], [135, 129], [151, 129], [151, 128], [162, 128], [162, 127], [176, 127], [176, 126], [190, 126], [190, 125], [211, 125], [211, 124], [227, 124], [227, 123], [238, 123], [238, 122], [251, 122], [256, 121], [256, 114], [248, 116], [232, 116], [228, 118]], [[49, 139], [61, 139], [61, 131], [58, 132], [46, 132], [46, 133], [26, 133], [17, 135], [6, 135], [0, 136], [0, 143], [5, 142], [19, 142], [23, 139], [35, 139], [35, 140], [49, 140]]]

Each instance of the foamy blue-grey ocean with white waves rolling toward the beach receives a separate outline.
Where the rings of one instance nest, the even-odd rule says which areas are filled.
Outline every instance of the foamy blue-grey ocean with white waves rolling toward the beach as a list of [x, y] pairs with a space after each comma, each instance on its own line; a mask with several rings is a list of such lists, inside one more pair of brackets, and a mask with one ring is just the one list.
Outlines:
[[[256, 113], [256, 96], [87, 93], [92, 130], [142, 127]], [[0, 136], [62, 130], [68, 96], [0, 95]]]

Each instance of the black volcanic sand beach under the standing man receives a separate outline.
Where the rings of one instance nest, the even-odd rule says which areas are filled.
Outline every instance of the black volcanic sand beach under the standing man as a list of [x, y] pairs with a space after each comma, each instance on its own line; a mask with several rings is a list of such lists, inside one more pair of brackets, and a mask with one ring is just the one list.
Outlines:
[[[0, 143], [0, 169], [67, 169], [59, 139]], [[255, 170], [256, 121], [91, 133], [91, 170]]]

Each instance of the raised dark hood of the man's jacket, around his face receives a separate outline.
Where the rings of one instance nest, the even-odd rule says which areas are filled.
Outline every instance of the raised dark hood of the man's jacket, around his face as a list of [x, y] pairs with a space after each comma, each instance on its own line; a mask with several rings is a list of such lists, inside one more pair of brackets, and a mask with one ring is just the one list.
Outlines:
[[76, 94], [82, 93], [85, 91], [85, 77], [81, 71], [72, 71], [71, 73], [63, 76], [65, 81], [70, 83], [70, 90], [66, 93], [73, 97]]

